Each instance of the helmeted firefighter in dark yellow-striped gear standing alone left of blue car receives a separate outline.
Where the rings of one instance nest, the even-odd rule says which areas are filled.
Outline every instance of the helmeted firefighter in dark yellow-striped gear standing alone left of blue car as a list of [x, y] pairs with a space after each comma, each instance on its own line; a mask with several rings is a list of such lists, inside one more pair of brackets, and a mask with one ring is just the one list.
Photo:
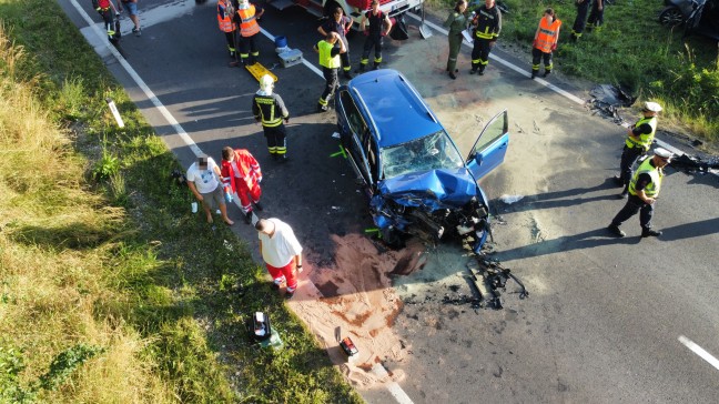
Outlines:
[[282, 97], [273, 90], [274, 80], [269, 74], [263, 75], [260, 79], [260, 90], [252, 99], [252, 113], [257, 122], [262, 122], [272, 159], [287, 161], [287, 132], [284, 123], [290, 122], [290, 112]]

